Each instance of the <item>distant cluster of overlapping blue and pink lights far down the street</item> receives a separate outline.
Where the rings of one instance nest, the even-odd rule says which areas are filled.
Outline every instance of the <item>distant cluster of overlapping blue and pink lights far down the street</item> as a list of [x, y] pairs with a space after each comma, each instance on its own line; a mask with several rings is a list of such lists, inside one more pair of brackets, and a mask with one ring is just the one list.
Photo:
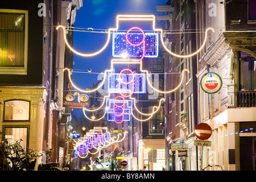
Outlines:
[[125, 139], [126, 134], [127, 131], [111, 137], [106, 127], [94, 127], [93, 130], [90, 130], [81, 139], [74, 140], [74, 157], [86, 158], [88, 154], [96, 154], [102, 148], [121, 142]]

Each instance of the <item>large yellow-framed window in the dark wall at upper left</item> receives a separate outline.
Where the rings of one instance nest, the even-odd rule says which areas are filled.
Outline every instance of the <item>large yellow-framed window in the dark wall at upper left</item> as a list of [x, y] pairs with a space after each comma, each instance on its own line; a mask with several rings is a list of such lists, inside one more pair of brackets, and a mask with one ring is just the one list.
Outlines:
[[28, 11], [0, 9], [0, 74], [27, 74]]

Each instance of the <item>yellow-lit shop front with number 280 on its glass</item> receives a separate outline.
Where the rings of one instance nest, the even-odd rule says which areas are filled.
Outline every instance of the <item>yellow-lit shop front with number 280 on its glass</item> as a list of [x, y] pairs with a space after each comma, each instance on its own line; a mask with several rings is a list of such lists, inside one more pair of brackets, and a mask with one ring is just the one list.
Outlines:
[[0, 88], [2, 140], [15, 143], [22, 139], [24, 149], [42, 151], [46, 97], [43, 87]]

